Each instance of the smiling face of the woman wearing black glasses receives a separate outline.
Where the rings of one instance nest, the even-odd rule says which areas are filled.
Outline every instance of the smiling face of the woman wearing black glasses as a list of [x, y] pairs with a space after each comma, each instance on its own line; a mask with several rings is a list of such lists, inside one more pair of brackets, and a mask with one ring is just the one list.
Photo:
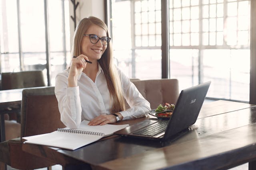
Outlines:
[[[95, 34], [98, 37], [106, 37], [106, 31], [98, 25], [91, 25], [85, 34]], [[90, 41], [90, 36], [84, 36], [82, 39], [82, 54], [86, 55], [90, 61], [99, 60], [106, 50], [108, 45], [102, 45], [101, 40], [93, 44]]]

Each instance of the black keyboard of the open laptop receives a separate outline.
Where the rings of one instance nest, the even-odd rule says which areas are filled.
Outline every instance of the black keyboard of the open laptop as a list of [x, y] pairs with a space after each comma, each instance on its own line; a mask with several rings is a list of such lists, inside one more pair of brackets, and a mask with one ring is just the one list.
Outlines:
[[155, 136], [155, 135], [162, 133], [163, 131], [166, 130], [168, 122], [169, 121], [158, 121], [157, 123], [154, 123], [152, 125], [149, 125], [147, 127], [144, 127], [142, 129], [135, 131], [133, 134]]

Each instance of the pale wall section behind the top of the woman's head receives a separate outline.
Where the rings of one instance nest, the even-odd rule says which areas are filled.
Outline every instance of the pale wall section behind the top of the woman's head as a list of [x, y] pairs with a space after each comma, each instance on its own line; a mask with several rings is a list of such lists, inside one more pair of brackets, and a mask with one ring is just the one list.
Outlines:
[[[76, 3], [79, 2], [78, 7], [76, 8], [76, 25], [82, 18], [89, 16], [95, 16], [101, 20], [105, 20], [105, 0], [76, 0]], [[74, 16], [74, 5], [69, 2], [69, 13], [70, 16]], [[70, 45], [72, 48], [74, 37], [74, 21], [70, 17]]]

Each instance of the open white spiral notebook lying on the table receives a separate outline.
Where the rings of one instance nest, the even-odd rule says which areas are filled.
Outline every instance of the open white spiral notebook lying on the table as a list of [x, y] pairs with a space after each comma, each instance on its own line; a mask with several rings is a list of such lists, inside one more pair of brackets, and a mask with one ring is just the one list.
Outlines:
[[78, 129], [62, 128], [52, 133], [23, 137], [22, 139], [27, 140], [24, 143], [75, 150], [129, 126], [110, 124], [89, 126], [88, 123], [89, 121], [82, 121]]

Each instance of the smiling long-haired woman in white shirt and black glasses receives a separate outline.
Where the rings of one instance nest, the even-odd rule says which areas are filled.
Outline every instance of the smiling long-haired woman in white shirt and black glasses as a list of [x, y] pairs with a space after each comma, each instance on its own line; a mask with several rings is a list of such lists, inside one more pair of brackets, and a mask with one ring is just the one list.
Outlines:
[[55, 85], [60, 119], [69, 128], [77, 128], [82, 120], [105, 125], [142, 117], [150, 110], [149, 102], [113, 65], [108, 36], [98, 18], [84, 18], [77, 25], [70, 68], [56, 76]]

